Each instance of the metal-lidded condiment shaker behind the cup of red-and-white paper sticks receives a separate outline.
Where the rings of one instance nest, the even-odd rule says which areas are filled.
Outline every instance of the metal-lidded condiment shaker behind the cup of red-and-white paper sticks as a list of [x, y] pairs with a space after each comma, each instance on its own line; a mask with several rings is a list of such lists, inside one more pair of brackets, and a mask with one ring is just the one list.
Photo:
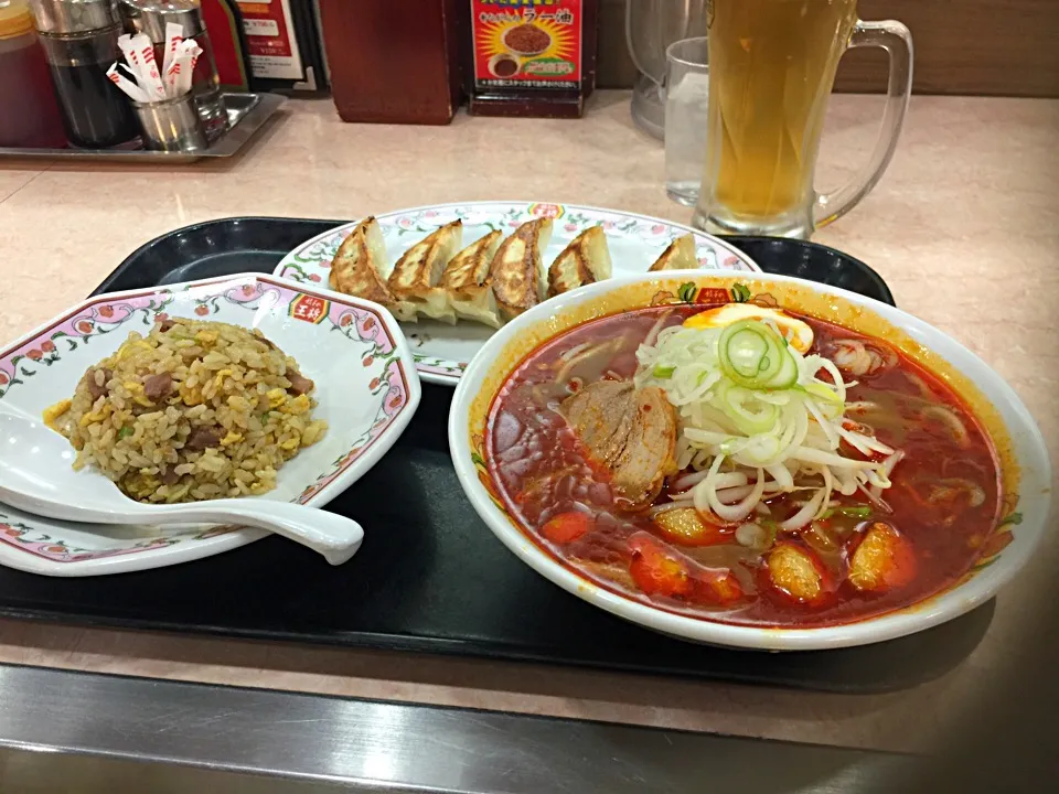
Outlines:
[[127, 33], [143, 33], [154, 44], [154, 60], [164, 63], [165, 25], [180, 25], [181, 39], [194, 39], [202, 55], [191, 77], [191, 95], [206, 138], [217, 138], [228, 126], [228, 115], [221, 96], [221, 79], [213, 56], [210, 33], [202, 18], [200, 0], [119, 0], [118, 12]]

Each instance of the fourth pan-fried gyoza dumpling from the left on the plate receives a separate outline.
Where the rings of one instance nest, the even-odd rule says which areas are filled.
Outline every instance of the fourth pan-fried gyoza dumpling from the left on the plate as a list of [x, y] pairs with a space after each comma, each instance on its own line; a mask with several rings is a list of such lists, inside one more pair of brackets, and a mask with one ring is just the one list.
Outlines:
[[552, 239], [552, 218], [528, 221], [500, 244], [489, 268], [493, 294], [502, 314], [511, 319], [544, 299], [542, 253]]

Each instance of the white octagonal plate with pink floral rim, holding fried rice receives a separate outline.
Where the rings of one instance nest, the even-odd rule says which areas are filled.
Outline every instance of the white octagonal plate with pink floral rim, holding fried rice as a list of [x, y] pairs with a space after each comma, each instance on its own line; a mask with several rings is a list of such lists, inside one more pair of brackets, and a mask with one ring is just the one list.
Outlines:
[[[69, 397], [85, 369], [159, 314], [258, 329], [315, 382], [328, 432], [279, 470], [261, 496], [322, 507], [393, 446], [419, 405], [408, 343], [382, 307], [272, 276], [247, 273], [90, 298], [0, 348], [0, 405], [40, 417]], [[0, 439], [2, 441], [2, 439]], [[50, 576], [94, 576], [199, 559], [264, 537], [233, 526], [95, 526], [0, 503], [0, 565]], [[367, 528], [371, 534], [371, 527]]]

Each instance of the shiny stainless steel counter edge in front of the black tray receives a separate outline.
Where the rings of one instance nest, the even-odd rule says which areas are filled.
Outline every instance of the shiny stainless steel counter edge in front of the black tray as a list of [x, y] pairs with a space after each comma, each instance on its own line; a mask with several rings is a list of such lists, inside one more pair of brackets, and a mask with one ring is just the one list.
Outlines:
[[0, 791], [857, 792], [908, 758], [0, 665]]

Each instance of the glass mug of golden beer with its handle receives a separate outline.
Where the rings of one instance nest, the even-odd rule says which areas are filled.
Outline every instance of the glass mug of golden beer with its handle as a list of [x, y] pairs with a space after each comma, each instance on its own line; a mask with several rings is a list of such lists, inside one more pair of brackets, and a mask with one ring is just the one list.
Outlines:
[[[709, 0], [706, 164], [693, 223], [715, 234], [807, 239], [870, 191], [894, 155], [912, 85], [912, 36], [862, 22], [856, 0]], [[844, 187], [817, 194], [813, 172], [827, 97], [849, 47], [890, 57], [875, 151]]]

